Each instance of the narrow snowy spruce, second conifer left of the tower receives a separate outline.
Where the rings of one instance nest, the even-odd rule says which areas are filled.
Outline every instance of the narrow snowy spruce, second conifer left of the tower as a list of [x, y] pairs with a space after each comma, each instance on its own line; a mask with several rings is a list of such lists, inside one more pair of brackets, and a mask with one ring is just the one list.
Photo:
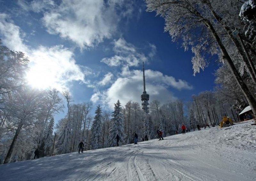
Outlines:
[[97, 106], [95, 117], [92, 122], [92, 149], [102, 148], [102, 115], [100, 105]]

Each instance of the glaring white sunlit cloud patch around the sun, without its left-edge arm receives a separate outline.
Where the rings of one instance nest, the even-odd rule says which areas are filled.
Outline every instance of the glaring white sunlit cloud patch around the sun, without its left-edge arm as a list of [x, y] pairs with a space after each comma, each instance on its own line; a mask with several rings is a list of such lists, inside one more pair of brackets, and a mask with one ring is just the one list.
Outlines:
[[84, 73], [73, 53], [63, 46], [39, 47], [31, 52], [28, 82], [37, 88], [67, 89], [68, 82], [84, 81]]

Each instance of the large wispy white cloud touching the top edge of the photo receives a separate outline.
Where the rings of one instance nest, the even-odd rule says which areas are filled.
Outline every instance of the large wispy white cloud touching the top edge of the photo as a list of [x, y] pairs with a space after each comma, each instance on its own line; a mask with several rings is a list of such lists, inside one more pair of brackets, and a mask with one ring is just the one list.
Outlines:
[[48, 33], [71, 40], [81, 49], [111, 38], [121, 19], [134, 15], [136, 6], [130, 0], [18, 0], [18, 4], [25, 11], [41, 12]]

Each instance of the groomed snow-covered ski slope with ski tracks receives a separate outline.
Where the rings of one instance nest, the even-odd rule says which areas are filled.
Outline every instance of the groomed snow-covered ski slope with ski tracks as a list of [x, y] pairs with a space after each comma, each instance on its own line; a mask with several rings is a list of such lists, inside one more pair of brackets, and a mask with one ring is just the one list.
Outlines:
[[251, 123], [0, 165], [0, 180], [255, 181], [256, 126]]

